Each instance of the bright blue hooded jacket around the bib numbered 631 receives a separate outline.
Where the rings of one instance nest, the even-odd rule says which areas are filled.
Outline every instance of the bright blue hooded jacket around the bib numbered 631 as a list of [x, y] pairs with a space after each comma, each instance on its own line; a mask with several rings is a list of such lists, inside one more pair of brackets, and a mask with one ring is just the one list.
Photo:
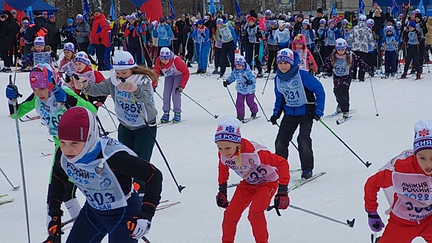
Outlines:
[[299, 116], [299, 115], [306, 115], [308, 112], [314, 111], [316, 115], [322, 116], [324, 115], [324, 106], [326, 101], [326, 94], [324, 92], [324, 88], [322, 87], [322, 84], [319, 83], [317, 78], [310, 75], [308, 72], [304, 70], [300, 70], [300, 78], [303, 82], [304, 90], [306, 92], [306, 98], [308, 99], [308, 102], [314, 102], [316, 100], [316, 103], [314, 106], [306, 104], [299, 107], [290, 107], [285, 101], [285, 97], [281, 92], [279, 92], [277, 85], [277, 78], [281, 78], [283, 81], [290, 81], [291, 78], [293, 78], [297, 72], [299, 72], [299, 54], [294, 51], [294, 65], [292, 65], [290, 71], [283, 74], [279, 69], [277, 71], [276, 77], [274, 77], [274, 94], [276, 96], [276, 101], [274, 101], [274, 109], [273, 109], [273, 115], [279, 116], [280, 110], [283, 106], [283, 112], [285, 112], [285, 115], [291, 115], [291, 116]]

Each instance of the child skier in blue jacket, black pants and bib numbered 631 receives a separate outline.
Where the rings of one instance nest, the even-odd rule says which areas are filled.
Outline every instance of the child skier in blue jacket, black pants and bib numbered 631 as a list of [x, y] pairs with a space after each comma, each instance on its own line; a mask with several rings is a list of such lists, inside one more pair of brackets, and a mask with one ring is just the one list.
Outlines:
[[274, 77], [273, 115], [270, 121], [277, 124], [277, 119], [285, 113], [276, 137], [276, 154], [288, 159], [288, 145], [295, 130], [300, 126], [297, 137], [299, 142], [299, 156], [301, 161], [301, 178], [312, 177], [313, 151], [312, 131], [313, 119], [319, 120], [324, 114], [326, 94], [317, 78], [301, 70], [299, 54], [290, 49], [282, 49], [277, 56], [278, 72]]

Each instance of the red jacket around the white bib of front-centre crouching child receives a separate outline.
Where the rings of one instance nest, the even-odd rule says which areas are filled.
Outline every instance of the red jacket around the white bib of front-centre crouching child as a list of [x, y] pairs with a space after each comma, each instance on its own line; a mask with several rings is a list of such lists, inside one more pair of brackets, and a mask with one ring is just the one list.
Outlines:
[[[242, 153], [254, 153], [255, 151], [254, 145], [252, 145], [249, 140], [244, 138], [242, 138], [240, 146]], [[236, 156], [238, 153], [235, 153], [234, 155]], [[217, 181], [219, 185], [221, 185], [228, 182], [229, 167], [226, 167], [224, 164], [222, 164], [220, 160], [220, 153], [217, 153], [217, 156], [219, 157], [219, 176]], [[280, 185], [288, 185], [288, 183], [290, 183], [290, 166], [288, 165], [288, 161], [285, 160], [285, 158], [282, 158], [281, 156], [278, 156], [270, 151], [264, 150], [258, 151], [258, 156], [260, 156], [262, 164], [276, 167], [277, 174], [279, 175]]]

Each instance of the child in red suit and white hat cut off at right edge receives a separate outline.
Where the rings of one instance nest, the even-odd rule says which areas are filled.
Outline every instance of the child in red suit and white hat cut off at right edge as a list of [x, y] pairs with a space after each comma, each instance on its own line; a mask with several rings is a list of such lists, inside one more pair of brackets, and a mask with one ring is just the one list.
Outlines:
[[414, 149], [393, 158], [365, 184], [365, 209], [374, 232], [384, 228], [376, 194], [390, 203], [390, 219], [379, 243], [408, 243], [415, 237], [432, 242], [432, 121], [417, 121]]

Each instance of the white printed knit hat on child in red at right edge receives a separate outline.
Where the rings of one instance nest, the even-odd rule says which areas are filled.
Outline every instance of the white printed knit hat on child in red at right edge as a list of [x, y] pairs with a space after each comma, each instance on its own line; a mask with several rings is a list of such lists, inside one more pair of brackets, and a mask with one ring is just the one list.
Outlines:
[[414, 153], [422, 149], [432, 149], [432, 121], [420, 120], [414, 125]]

